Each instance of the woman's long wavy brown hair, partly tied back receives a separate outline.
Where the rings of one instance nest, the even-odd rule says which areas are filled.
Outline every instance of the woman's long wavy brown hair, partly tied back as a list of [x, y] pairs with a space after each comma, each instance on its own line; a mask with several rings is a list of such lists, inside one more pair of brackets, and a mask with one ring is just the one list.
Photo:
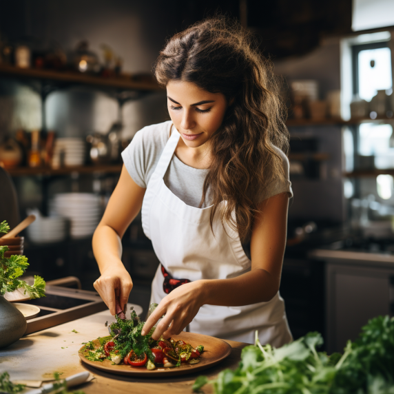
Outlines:
[[[187, 81], [227, 98], [225, 117], [211, 136], [213, 161], [203, 187], [222, 222], [248, 238], [258, 197], [274, 178], [286, 179], [287, 113], [280, 98], [281, 79], [260, 53], [256, 37], [233, 19], [215, 16], [175, 34], [160, 52], [154, 73], [160, 85]], [[226, 204], [220, 205], [222, 201]], [[220, 209], [218, 210], [218, 208]], [[235, 211], [236, 216], [232, 215]]]

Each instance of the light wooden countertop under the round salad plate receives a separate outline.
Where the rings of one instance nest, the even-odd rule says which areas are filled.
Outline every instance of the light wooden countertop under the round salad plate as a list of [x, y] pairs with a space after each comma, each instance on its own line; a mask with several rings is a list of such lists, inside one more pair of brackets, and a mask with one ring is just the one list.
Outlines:
[[[235, 369], [240, 361], [241, 350], [247, 346], [242, 342], [227, 341], [233, 348], [231, 355], [201, 373], [180, 377], [151, 377], [149, 380], [111, 375], [83, 364], [78, 355], [82, 342], [108, 335], [107, 327], [104, 326], [106, 320], [114, 320], [108, 310], [26, 335], [8, 348], [0, 349], [0, 372], [8, 371], [11, 381], [48, 381], [53, 379], [54, 372], [62, 373], [61, 377], [64, 378], [90, 371], [95, 379], [73, 388], [83, 390], [86, 394], [185, 394], [192, 393], [191, 386], [199, 375], [216, 377], [223, 369]], [[212, 393], [210, 386], [204, 391]]]

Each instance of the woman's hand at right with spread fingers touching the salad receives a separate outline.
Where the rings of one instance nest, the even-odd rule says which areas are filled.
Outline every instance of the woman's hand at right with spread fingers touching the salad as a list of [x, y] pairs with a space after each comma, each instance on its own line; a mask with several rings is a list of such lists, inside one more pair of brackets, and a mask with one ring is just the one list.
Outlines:
[[142, 335], [149, 333], [164, 314], [164, 318], [158, 323], [152, 335], [154, 340], [158, 340], [161, 335], [169, 338], [183, 331], [204, 304], [202, 284], [202, 280], [182, 284], [166, 295], [145, 322]]

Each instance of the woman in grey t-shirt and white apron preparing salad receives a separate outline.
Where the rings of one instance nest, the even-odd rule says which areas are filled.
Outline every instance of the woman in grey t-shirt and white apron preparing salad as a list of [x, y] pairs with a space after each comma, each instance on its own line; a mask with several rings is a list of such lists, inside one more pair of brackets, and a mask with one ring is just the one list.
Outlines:
[[[93, 237], [94, 287], [115, 313], [132, 279], [121, 237], [142, 207], [160, 267], [143, 335], [191, 332], [282, 346], [278, 293], [292, 196], [278, 83], [238, 23], [207, 19], [170, 39], [155, 75], [171, 121], [144, 127], [123, 152], [118, 185]], [[242, 242], [250, 241], [249, 259]]]

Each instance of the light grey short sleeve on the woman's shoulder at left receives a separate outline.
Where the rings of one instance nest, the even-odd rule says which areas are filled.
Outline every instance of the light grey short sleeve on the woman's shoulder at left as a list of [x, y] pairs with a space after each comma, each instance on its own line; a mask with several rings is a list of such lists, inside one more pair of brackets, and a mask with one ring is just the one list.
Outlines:
[[132, 142], [122, 152], [123, 163], [139, 187], [147, 187], [145, 182], [145, 163], [144, 163], [144, 148], [143, 148], [143, 129], [136, 132]]

